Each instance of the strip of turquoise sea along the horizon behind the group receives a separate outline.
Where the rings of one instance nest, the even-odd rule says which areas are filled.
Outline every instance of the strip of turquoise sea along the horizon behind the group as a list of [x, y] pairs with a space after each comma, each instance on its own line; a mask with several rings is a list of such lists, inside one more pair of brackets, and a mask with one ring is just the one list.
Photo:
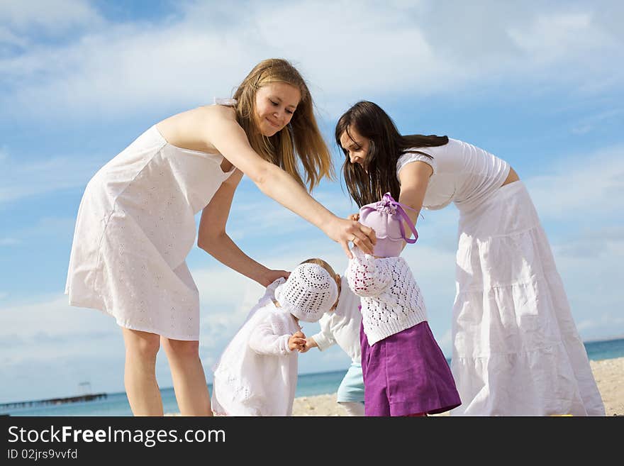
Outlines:
[[[624, 357], [624, 338], [584, 342], [590, 360]], [[450, 359], [447, 359], [450, 364]], [[345, 376], [347, 368], [316, 374], [300, 374], [295, 396], [314, 396], [335, 393]], [[212, 385], [208, 384], [212, 393]], [[167, 414], [179, 412], [172, 387], [160, 389], [164, 411]], [[76, 401], [61, 404], [32, 403], [14, 407], [0, 405], [0, 415], [9, 416], [132, 416], [126, 392], [109, 393], [101, 399]]]

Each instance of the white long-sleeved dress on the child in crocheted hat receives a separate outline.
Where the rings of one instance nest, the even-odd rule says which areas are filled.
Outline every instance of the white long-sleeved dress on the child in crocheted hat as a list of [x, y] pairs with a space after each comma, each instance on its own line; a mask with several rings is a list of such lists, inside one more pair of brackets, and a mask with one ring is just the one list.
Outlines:
[[301, 327], [275, 306], [280, 278], [252, 308], [247, 320], [214, 365], [212, 409], [225, 416], [291, 416], [298, 352], [288, 340]]

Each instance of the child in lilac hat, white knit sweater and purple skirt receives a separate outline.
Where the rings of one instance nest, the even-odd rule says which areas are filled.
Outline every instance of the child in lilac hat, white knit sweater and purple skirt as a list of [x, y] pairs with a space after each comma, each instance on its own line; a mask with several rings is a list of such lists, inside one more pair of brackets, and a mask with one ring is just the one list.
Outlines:
[[[362, 374], [365, 416], [427, 416], [459, 404], [450, 367], [427, 323], [425, 302], [407, 262], [404, 242], [418, 233], [402, 204], [389, 193], [360, 209], [373, 228], [373, 255], [354, 245], [347, 283], [362, 298]], [[406, 236], [403, 221], [414, 233]]]

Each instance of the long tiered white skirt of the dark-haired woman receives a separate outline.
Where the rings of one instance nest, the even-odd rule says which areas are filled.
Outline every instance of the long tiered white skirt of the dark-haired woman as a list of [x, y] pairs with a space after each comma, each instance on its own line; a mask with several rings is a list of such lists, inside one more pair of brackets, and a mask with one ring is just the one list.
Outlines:
[[561, 277], [522, 182], [460, 211], [451, 369], [463, 416], [604, 416]]

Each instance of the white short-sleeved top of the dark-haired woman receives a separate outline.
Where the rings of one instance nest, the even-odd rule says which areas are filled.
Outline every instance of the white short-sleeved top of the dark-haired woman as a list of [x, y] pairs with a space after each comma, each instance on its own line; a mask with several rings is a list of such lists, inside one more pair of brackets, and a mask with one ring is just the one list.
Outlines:
[[421, 154], [403, 154], [396, 162], [396, 177], [406, 164], [417, 160], [433, 168], [423, 200], [425, 209], [442, 209], [454, 202], [460, 211], [470, 211], [494, 194], [509, 174], [505, 160], [461, 140], [449, 138], [445, 145], [414, 149], [432, 155], [433, 160]]

